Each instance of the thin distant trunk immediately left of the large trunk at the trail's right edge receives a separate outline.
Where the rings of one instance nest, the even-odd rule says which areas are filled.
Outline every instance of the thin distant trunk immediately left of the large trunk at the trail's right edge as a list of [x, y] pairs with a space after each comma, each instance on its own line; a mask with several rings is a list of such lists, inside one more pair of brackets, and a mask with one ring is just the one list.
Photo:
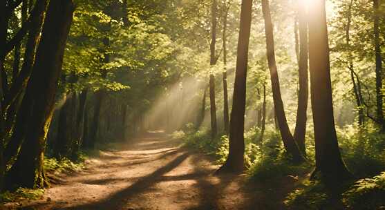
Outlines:
[[225, 133], [229, 133], [229, 99], [227, 92], [227, 16], [229, 15], [229, 7], [225, 11], [223, 17], [223, 125]]

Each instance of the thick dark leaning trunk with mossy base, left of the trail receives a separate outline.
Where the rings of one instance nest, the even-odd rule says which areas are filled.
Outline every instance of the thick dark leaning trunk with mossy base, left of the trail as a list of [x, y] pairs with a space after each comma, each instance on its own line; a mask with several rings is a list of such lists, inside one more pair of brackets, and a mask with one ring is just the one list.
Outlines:
[[[8, 183], [16, 187], [44, 187], [44, 149], [53, 113], [57, 81], [62, 71], [66, 39], [70, 30], [74, 6], [71, 0], [50, 1], [36, 62], [21, 104], [27, 125], [20, 155], [8, 173]], [[15, 128], [14, 135], [19, 132]]]

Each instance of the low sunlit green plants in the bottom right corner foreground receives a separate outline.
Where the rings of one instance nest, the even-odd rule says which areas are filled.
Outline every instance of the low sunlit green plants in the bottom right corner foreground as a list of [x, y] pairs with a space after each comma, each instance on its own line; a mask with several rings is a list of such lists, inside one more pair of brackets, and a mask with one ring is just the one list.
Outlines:
[[288, 194], [284, 203], [288, 209], [385, 209], [385, 171], [373, 178], [359, 179], [341, 185], [337, 193], [330, 192], [321, 182], [305, 181]]

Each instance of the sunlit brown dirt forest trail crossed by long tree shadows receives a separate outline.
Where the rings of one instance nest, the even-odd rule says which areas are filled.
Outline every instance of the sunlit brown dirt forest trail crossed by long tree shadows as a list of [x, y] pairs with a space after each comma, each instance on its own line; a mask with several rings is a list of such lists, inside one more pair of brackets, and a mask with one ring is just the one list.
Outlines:
[[285, 209], [292, 178], [247, 182], [214, 176], [207, 155], [149, 133], [119, 151], [103, 151], [84, 170], [58, 177], [41, 200], [19, 209]]

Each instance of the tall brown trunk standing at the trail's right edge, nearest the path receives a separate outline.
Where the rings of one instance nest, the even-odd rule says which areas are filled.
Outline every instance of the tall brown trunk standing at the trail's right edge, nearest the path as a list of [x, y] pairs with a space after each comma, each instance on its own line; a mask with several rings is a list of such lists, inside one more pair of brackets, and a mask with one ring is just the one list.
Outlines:
[[234, 99], [230, 118], [229, 155], [218, 172], [238, 173], [244, 169], [245, 139], [243, 133], [245, 130], [246, 77], [251, 22], [252, 0], [243, 0], [236, 58]]

